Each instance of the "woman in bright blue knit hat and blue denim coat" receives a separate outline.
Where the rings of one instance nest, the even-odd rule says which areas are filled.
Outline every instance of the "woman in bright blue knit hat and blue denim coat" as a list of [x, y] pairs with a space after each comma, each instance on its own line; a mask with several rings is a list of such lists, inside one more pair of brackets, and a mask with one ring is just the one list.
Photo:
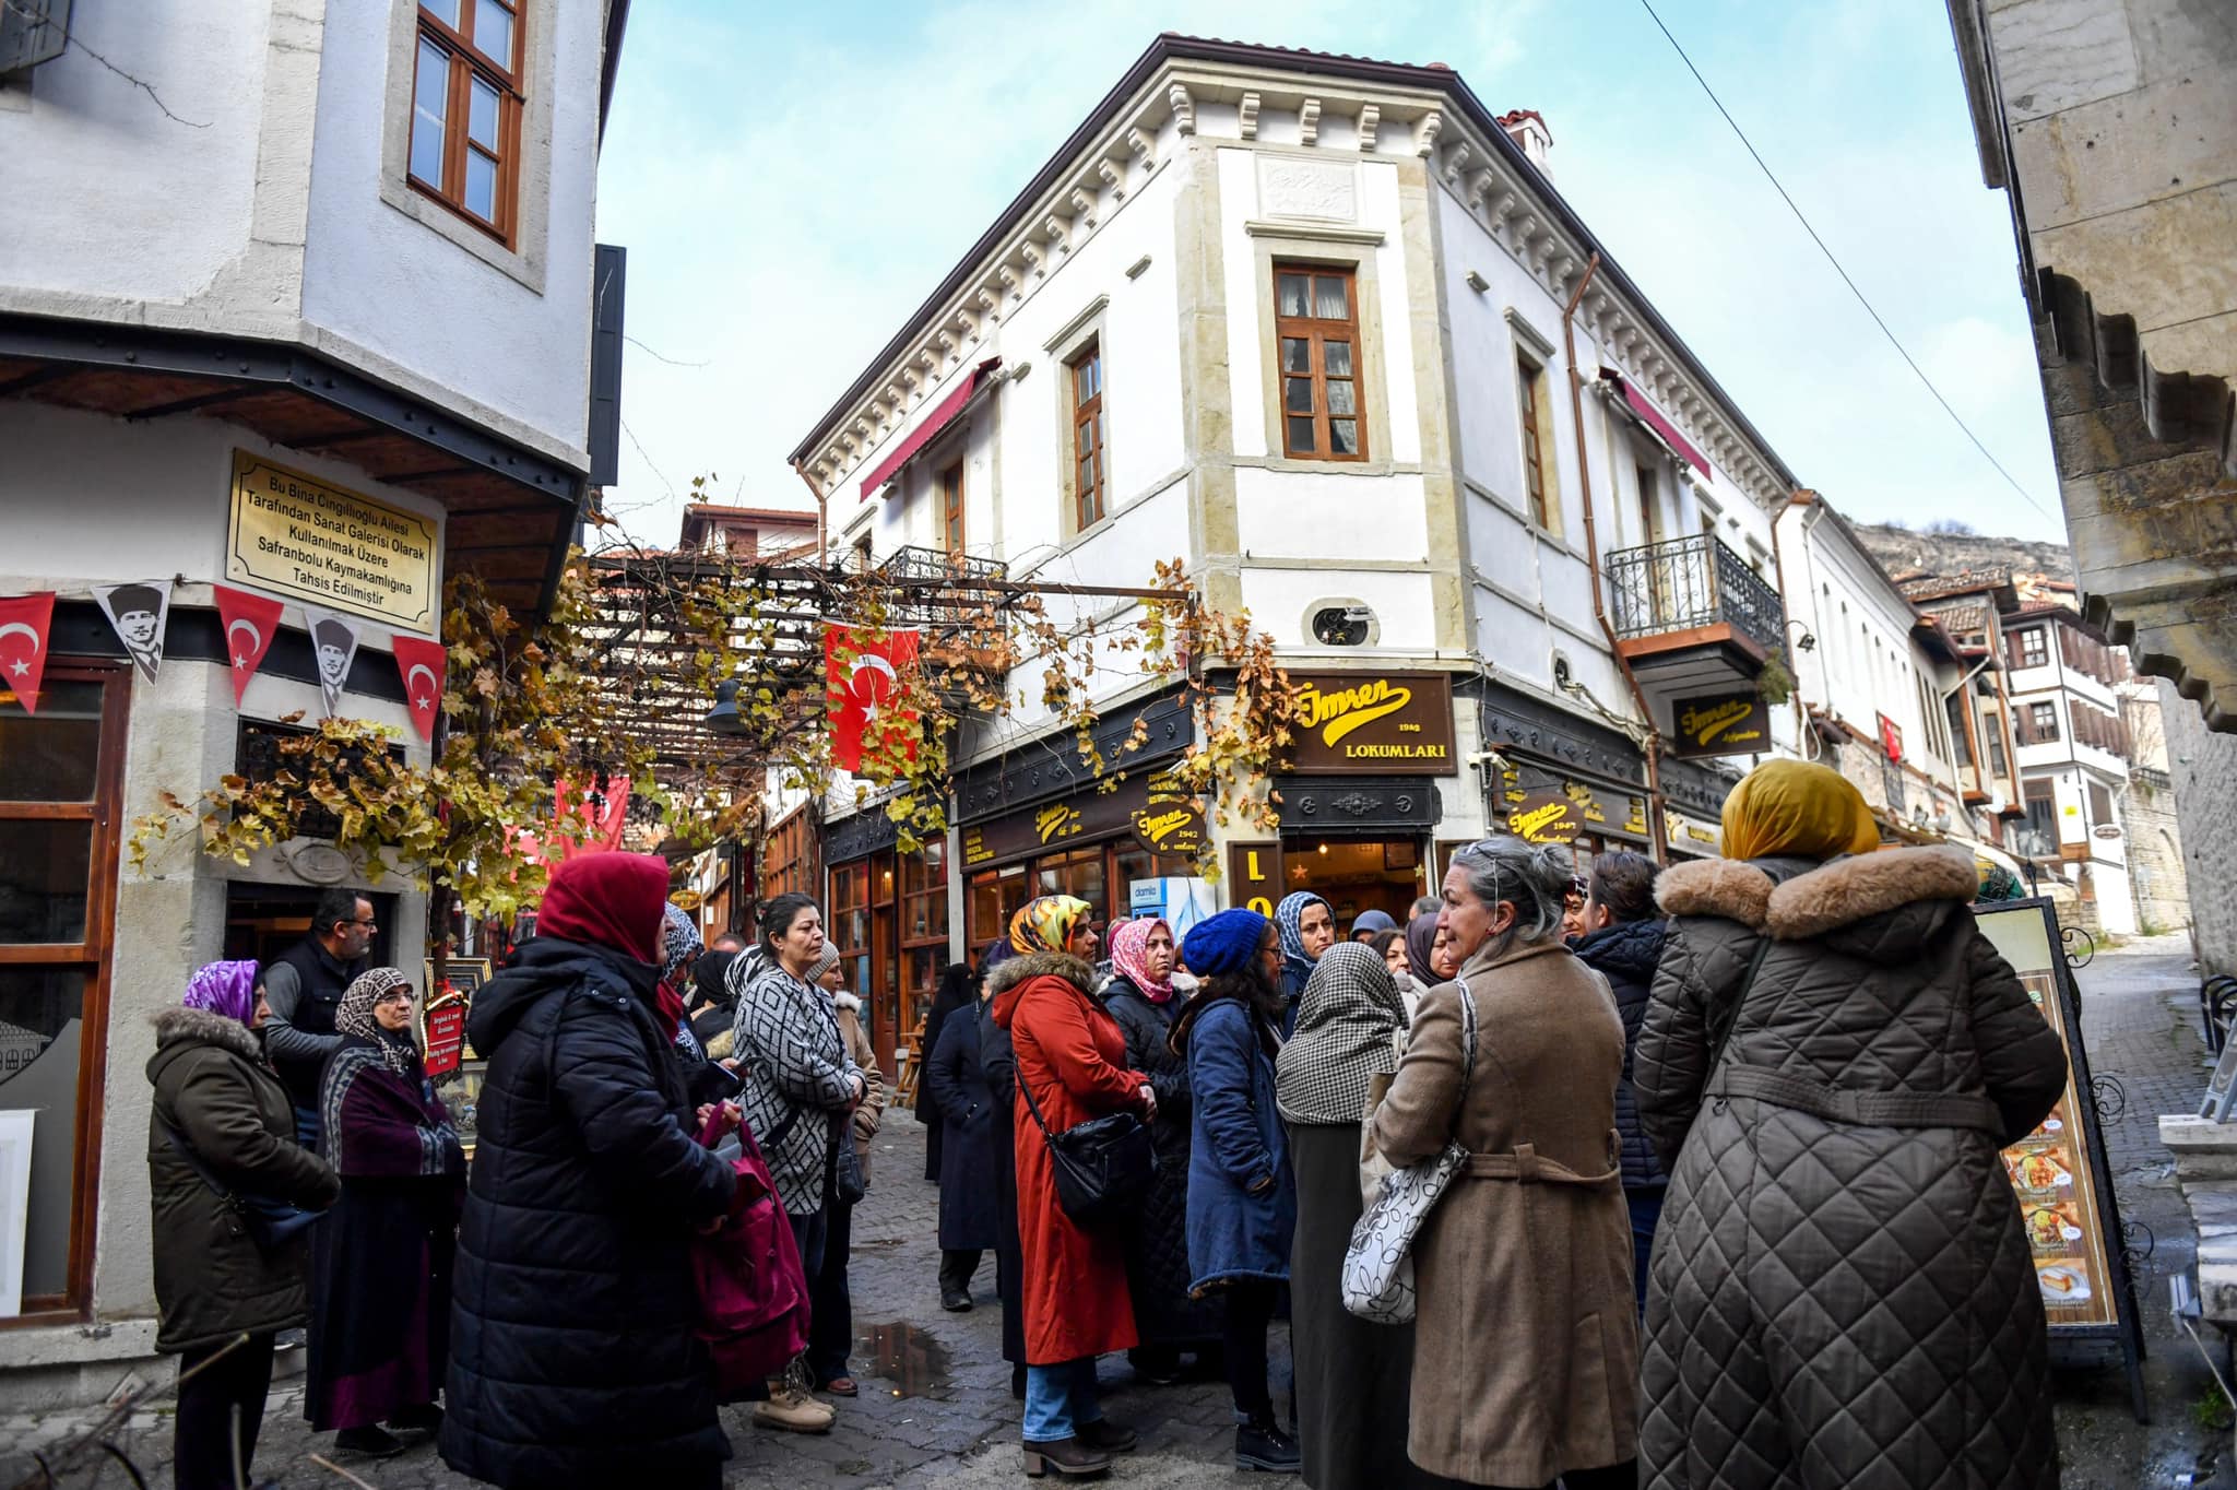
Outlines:
[[1282, 942], [1255, 911], [1221, 911], [1190, 928], [1188, 966], [1204, 989], [1172, 1027], [1188, 1058], [1188, 1271], [1190, 1293], [1226, 1304], [1228, 1389], [1235, 1394], [1235, 1463], [1297, 1472], [1297, 1441], [1275, 1423], [1266, 1389], [1266, 1324], [1289, 1282], [1297, 1192], [1289, 1139], [1273, 1101], [1282, 1049]]

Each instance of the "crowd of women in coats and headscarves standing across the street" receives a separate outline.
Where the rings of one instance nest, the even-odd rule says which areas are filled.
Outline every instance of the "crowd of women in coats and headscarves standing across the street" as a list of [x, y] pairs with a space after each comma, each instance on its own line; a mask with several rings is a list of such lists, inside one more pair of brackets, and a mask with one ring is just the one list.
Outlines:
[[[1161, 920], [1105, 942], [1045, 895], [948, 969], [917, 1103], [937, 1295], [971, 1309], [993, 1253], [1025, 1472], [1136, 1447], [1098, 1392], [1123, 1351], [1141, 1383], [1224, 1376], [1235, 1463], [1315, 1490], [2056, 1486], [1998, 1150], [2051, 1110], [2065, 1054], [1966, 913], [1973, 861], [1877, 850], [1857, 790], [1799, 763], [1731, 792], [1725, 848], [1579, 879], [1494, 837], [1405, 926], [1344, 942], [1315, 895], [1179, 944]], [[756, 1172], [725, 1159], [740, 1121], [812, 1300], [754, 1421], [830, 1427], [884, 1107], [834, 969], [803, 895], [700, 955], [660, 859], [568, 861], [474, 998], [470, 1177], [403, 973], [349, 984], [309, 1152], [255, 969], [204, 969], [150, 1063], [163, 1345], [199, 1383], [179, 1486], [246, 1465], [271, 1336], [306, 1313], [309, 1412], [344, 1443], [432, 1427], [499, 1486], [720, 1483], [691, 1248]], [[1136, 1123], [1141, 1190], [1098, 1210], [1083, 1139]], [[1414, 1320], [1371, 1322], [1347, 1253], [1382, 1177], [1425, 1163], [1452, 1183], [1407, 1242]], [[306, 1293], [298, 1217], [329, 1206]], [[190, 1450], [228, 1477], [192, 1479]]]

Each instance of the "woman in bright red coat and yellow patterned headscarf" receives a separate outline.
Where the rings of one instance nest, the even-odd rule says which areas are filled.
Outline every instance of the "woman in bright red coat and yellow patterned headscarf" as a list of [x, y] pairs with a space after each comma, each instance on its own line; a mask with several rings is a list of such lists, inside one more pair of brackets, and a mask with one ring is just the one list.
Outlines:
[[[1152, 1116], [1150, 1078], [1125, 1067], [1125, 1031], [1094, 998], [1092, 908], [1042, 895], [1009, 922], [1016, 953], [987, 978], [993, 1022], [1018, 1052], [1018, 1085], [1049, 1132], [1110, 1112]], [[1018, 1239], [1025, 1251], [1025, 1472], [1101, 1474], [1134, 1434], [1096, 1405], [1096, 1356], [1136, 1345], [1125, 1235], [1083, 1230], [1056, 1201], [1049, 1145], [1020, 1101]]]

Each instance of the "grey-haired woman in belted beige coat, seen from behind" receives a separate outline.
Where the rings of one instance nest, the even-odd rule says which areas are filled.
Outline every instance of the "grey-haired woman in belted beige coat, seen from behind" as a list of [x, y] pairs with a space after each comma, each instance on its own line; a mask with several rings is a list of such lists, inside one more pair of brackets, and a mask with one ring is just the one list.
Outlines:
[[[1459, 982], [1420, 1000], [1374, 1119], [1391, 1163], [1472, 1154], [1414, 1242], [1420, 1311], [1407, 1454], [1474, 1486], [1631, 1490], [1637, 1307], [1615, 1132], [1624, 1027], [1561, 944], [1564, 857], [1463, 848], [1438, 913]], [[1461, 1090], [1461, 998], [1476, 1069]]]

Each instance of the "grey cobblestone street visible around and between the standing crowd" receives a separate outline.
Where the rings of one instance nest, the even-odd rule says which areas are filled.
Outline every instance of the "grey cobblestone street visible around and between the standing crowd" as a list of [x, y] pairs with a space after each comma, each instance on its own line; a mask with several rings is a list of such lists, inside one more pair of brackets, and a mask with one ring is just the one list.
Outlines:
[[[2168, 1277], [2190, 1266], [2188, 1213], [2165, 1150], [2156, 1139], [2161, 1112], [2183, 1112], [2203, 1087], [2203, 1045], [2197, 1031], [2197, 980], [2188, 946], [2163, 937], [2125, 951], [2101, 953], [2080, 973], [2083, 1029], [2098, 1076], [2118, 1078], [2118, 1112], [2107, 1119], [2121, 1213], [2150, 1233], [2150, 1257], [2136, 1280], [2150, 1349], [2148, 1392], [2154, 1423], [2136, 1425], [2118, 1367], [2076, 1369], [2058, 1376], [2058, 1421], [2065, 1490], [2179, 1490], [2233, 1483], [2228, 1432], [2201, 1427], [2192, 1403], [2210, 1392], [2210, 1376], [2168, 1311]], [[2114, 1105], [2107, 1101], [2107, 1105]], [[924, 1183], [924, 1130], [899, 1112], [879, 1137], [870, 1199], [855, 1219], [855, 1374], [861, 1398], [839, 1405], [828, 1436], [756, 1430], [743, 1407], [725, 1409], [736, 1459], [729, 1483], [738, 1488], [940, 1488], [1013, 1486], [1018, 1474], [1018, 1403], [1009, 1396], [1009, 1367], [1000, 1358], [1000, 1313], [993, 1304], [993, 1262], [982, 1264], [978, 1309], [940, 1311], [933, 1224], [937, 1195]], [[2139, 1255], [2145, 1251], [2139, 1233]], [[1282, 1327], [1275, 1340], [1277, 1401], [1286, 1401], [1289, 1354]], [[1103, 1362], [1105, 1401], [1114, 1418], [1143, 1432], [1136, 1454], [1121, 1459], [1114, 1483], [1221, 1486], [1250, 1483], [1228, 1468], [1230, 1412], [1224, 1383], [1139, 1387], [1123, 1358]], [[0, 1486], [18, 1483], [34, 1465], [22, 1450], [51, 1450], [92, 1423], [92, 1414], [0, 1418]], [[154, 1488], [170, 1486], [170, 1418], [161, 1409], [134, 1414], [114, 1436]], [[11, 1452], [13, 1450], [13, 1452]], [[275, 1387], [257, 1470], [282, 1486], [342, 1486], [313, 1463], [331, 1456], [331, 1436], [313, 1436], [302, 1421], [293, 1380]], [[92, 1465], [87, 1465], [92, 1468]], [[380, 1490], [465, 1490], [432, 1447], [385, 1463], [347, 1463], [362, 1483]], [[2212, 1477], [2212, 1479], [2208, 1479]], [[110, 1463], [94, 1481], [78, 1472], [63, 1481], [123, 1486]]]

